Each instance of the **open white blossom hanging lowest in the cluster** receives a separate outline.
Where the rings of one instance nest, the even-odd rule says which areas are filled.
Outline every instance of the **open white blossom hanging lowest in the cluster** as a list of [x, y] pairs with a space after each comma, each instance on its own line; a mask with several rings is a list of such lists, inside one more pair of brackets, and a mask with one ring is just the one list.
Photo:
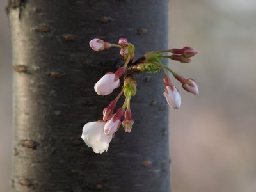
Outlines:
[[104, 122], [89, 122], [84, 125], [81, 138], [95, 153], [107, 152], [112, 135], [104, 134]]

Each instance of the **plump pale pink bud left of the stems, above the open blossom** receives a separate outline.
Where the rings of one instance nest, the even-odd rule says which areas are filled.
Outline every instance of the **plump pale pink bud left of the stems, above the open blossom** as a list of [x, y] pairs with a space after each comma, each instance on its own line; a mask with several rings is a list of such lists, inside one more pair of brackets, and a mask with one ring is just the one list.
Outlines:
[[95, 84], [94, 90], [98, 95], [109, 95], [115, 88], [118, 88], [119, 86], [119, 77], [112, 72], [108, 72]]

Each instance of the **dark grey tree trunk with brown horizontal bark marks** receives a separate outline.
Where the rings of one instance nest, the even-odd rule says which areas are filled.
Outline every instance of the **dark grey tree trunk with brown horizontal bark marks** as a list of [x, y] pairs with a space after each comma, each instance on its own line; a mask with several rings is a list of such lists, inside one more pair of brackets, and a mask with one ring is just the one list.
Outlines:
[[13, 45], [13, 191], [170, 191], [163, 74], [136, 76], [134, 127], [95, 154], [79, 138], [118, 93], [93, 90], [122, 65], [116, 48], [88, 42], [125, 37], [136, 56], [168, 44], [168, 0], [26, 0], [8, 6]]

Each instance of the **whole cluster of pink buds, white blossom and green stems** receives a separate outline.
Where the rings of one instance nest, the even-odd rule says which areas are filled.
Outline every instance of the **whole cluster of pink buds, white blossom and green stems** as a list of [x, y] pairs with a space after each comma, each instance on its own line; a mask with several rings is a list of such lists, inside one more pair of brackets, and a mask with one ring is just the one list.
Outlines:
[[[127, 42], [125, 38], [120, 38], [118, 44], [93, 39], [90, 41], [90, 47], [92, 47], [94, 51], [103, 51], [111, 47], [118, 47], [120, 48], [120, 55], [124, 60], [122, 67], [114, 73], [107, 72], [94, 86], [95, 92], [98, 95], [109, 95], [114, 89], [120, 86], [120, 77], [124, 76], [122, 90], [118, 93], [116, 98], [103, 109], [102, 120], [89, 122], [83, 127], [81, 138], [88, 147], [93, 148], [95, 153], [107, 152], [109, 143], [114, 138], [115, 132], [118, 131], [121, 124], [125, 132], [131, 132], [132, 125], [134, 124], [131, 113], [131, 97], [136, 95], [137, 90], [134, 74], [140, 72], [156, 73], [163, 70], [163, 81], [165, 84], [163, 94], [169, 106], [172, 106], [174, 109], [180, 108], [181, 97], [179, 90], [172, 84], [170, 77], [168, 77], [167, 71], [171, 72], [173, 77], [182, 83], [184, 90], [198, 95], [198, 87], [193, 79], [186, 79], [161, 63], [163, 58], [170, 58], [171, 60], [177, 60], [181, 63], [189, 63], [191, 57], [198, 53], [198, 51], [191, 47], [147, 52], [134, 63], [132, 63], [135, 51], [134, 45]], [[164, 54], [169, 52], [172, 53], [172, 55], [166, 56]], [[114, 113], [116, 104], [122, 95], [125, 97], [124, 104]], [[124, 120], [122, 120], [123, 116]]]

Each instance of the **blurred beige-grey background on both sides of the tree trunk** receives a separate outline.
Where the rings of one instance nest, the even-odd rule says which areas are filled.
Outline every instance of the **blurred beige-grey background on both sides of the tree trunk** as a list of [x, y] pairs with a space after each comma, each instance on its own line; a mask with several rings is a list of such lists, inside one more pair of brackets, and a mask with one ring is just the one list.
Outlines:
[[[12, 67], [7, 0], [0, 0], [0, 189], [10, 191]], [[189, 64], [196, 97], [170, 109], [173, 192], [256, 191], [256, 1], [170, 0], [170, 47], [200, 51]]]

